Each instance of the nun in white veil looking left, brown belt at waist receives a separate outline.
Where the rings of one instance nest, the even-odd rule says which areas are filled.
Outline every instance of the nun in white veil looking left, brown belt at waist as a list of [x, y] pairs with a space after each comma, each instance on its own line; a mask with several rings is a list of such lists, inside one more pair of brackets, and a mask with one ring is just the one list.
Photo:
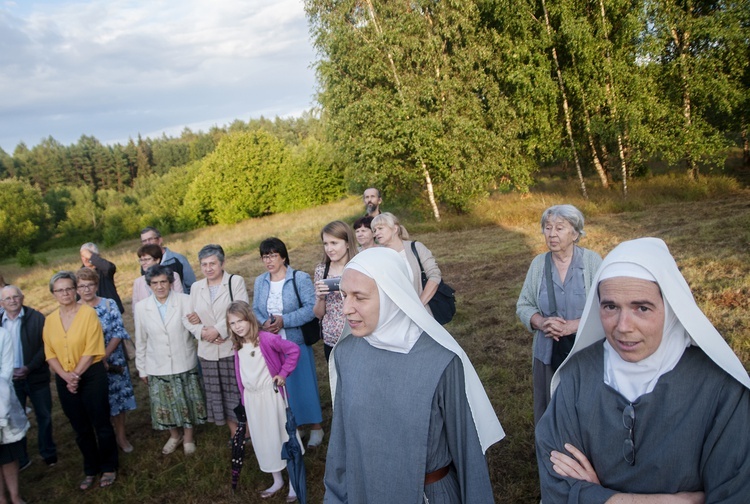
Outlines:
[[505, 434], [404, 261], [387, 248], [362, 251], [347, 264], [341, 292], [351, 332], [329, 363], [324, 502], [494, 502], [484, 452]]

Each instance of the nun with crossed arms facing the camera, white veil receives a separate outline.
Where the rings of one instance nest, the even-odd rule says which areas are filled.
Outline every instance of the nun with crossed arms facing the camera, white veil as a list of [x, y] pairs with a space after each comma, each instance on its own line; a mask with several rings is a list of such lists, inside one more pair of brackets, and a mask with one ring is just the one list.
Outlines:
[[750, 379], [657, 238], [602, 262], [536, 429], [546, 502], [747, 503]]

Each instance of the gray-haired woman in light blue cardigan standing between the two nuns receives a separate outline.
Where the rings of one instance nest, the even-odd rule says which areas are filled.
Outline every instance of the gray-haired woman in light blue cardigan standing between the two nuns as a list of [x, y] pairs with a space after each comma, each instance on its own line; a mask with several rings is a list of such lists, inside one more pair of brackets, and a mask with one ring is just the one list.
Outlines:
[[602, 262], [599, 254], [577, 245], [585, 235], [583, 222], [573, 205], [542, 213], [549, 251], [531, 262], [516, 304], [516, 315], [534, 333], [534, 424], [550, 402], [552, 375], [573, 347], [591, 279]]

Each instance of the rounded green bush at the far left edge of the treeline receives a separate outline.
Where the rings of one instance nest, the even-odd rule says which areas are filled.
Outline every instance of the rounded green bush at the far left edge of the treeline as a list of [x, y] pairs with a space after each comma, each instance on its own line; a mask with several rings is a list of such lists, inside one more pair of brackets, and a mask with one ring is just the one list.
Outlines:
[[33, 247], [43, 237], [49, 218], [38, 188], [21, 180], [0, 181], [0, 257]]

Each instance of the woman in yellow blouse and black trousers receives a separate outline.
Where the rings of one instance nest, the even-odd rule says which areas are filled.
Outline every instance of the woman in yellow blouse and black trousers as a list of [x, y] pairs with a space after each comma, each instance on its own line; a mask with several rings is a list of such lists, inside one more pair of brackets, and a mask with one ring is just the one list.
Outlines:
[[55, 273], [49, 290], [59, 306], [44, 323], [44, 354], [55, 372], [55, 383], [65, 416], [76, 433], [83, 455], [88, 490], [97, 474], [99, 486], [115, 482], [117, 440], [109, 418], [109, 381], [102, 360], [104, 334], [96, 311], [76, 300], [78, 281], [70, 271]]

